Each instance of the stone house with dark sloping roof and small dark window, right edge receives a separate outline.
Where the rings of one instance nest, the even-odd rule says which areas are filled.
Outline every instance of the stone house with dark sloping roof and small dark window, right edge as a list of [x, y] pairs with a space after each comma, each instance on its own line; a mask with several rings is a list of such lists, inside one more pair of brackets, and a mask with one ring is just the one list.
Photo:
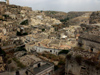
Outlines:
[[100, 36], [84, 33], [79, 36], [78, 45], [89, 52], [100, 52]]

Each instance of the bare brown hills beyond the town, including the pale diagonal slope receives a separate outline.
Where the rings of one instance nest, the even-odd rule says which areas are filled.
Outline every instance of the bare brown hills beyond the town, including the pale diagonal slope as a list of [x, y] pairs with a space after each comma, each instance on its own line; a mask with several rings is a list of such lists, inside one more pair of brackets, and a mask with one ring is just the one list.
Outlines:
[[43, 11], [45, 15], [60, 20], [64, 26], [79, 25], [81, 23], [89, 23], [91, 12], [58, 12], [58, 11]]

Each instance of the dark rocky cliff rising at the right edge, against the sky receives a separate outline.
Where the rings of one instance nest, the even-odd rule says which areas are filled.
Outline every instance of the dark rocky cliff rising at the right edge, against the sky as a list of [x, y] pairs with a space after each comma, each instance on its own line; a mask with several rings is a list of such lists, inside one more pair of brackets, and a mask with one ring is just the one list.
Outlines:
[[90, 15], [89, 23], [90, 23], [90, 24], [97, 24], [97, 23], [100, 23], [100, 11], [93, 12], [93, 13]]

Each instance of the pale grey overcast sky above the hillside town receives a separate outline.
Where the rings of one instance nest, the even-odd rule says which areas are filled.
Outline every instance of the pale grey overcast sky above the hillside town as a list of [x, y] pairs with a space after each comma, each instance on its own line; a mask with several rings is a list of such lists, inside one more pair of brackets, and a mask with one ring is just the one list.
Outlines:
[[10, 4], [32, 7], [33, 10], [98, 11], [100, 0], [9, 0]]

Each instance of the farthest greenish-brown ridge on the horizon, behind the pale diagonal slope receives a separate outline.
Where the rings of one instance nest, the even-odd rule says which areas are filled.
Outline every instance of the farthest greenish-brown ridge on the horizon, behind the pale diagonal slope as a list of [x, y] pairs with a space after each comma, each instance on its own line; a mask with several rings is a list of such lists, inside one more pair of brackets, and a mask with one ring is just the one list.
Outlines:
[[86, 12], [58, 12], [58, 11], [43, 11], [47, 16], [59, 19], [61, 21], [73, 19], [75, 17], [81, 16]]

